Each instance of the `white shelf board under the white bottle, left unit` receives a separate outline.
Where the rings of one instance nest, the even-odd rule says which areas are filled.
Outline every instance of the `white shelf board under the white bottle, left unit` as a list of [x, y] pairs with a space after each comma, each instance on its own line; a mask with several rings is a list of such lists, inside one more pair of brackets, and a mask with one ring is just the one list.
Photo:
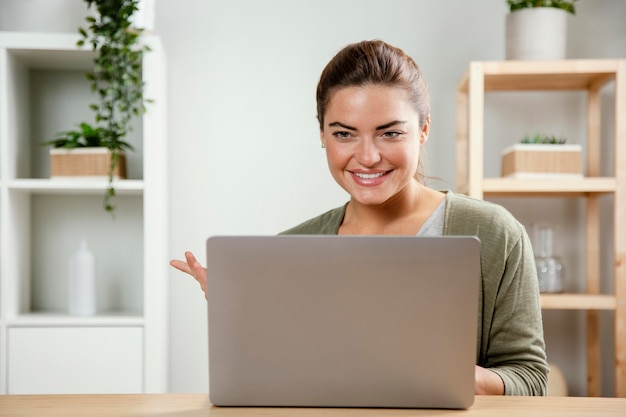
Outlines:
[[127, 327], [143, 326], [145, 319], [137, 312], [109, 312], [94, 316], [71, 316], [65, 313], [32, 312], [7, 320], [9, 327]]

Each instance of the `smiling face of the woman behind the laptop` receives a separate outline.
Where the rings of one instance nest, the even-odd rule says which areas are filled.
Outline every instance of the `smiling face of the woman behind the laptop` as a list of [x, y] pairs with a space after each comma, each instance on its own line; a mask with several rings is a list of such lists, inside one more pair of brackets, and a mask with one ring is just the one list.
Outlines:
[[379, 205], [411, 190], [428, 137], [398, 87], [369, 85], [334, 92], [320, 137], [335, 181], [352, 201]]

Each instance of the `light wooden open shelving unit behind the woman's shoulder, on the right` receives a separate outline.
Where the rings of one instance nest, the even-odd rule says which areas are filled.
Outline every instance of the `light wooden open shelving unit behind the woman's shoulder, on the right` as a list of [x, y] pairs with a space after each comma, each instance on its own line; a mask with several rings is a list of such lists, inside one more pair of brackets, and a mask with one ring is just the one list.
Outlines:
[[[614, 173], [600, 176], [600, 89], [615, 85]], [[485, 93], [585, 91], [586, 174], [580, 179], [522, 180], [484, 177]], [[626, 60], [472, 62], [457, 88], [457, 190], [475, 198], [558, 197], [586, 201], [586, 293], [542, 295], [544, 309], [587, 313], [587, 391], [600, 395], [599, 311], [614, 311], [615, 395], [626, 397]], [[600, 294], [600, 203], [613, 195], [614, 294]]]

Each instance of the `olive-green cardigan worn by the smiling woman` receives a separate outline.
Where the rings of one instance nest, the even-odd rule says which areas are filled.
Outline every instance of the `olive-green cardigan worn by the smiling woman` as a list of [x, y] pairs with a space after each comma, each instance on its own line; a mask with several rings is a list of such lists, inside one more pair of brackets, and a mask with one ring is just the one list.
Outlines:
[[[282, 234], [337, 234], [345, 208]], [[507, 395], [545, 395], [548, 365], [537, 271], [524, 226], [499, 205], [447, 191], [443, 234], [481, 241], [476, 363], [502, 378]]]

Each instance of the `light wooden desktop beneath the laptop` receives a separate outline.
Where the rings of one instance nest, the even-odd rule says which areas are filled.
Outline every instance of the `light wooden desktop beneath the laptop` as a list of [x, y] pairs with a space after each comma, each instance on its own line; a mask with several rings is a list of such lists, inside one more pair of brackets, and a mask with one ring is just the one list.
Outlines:
[[626, 416], [626, 398], [477, 396], [469, 410], [213, 407], [203, 394], [0, 395], [0, 417]]

